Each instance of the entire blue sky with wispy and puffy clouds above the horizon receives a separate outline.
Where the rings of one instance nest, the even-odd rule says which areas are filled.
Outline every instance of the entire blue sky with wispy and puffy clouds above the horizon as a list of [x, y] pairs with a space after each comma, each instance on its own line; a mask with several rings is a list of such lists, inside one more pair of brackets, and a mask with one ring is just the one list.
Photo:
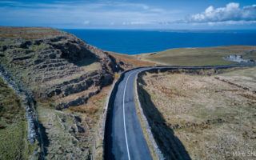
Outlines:
[[256, 1], [1, 0], [0, 26], [219, 30], [256, 29]]

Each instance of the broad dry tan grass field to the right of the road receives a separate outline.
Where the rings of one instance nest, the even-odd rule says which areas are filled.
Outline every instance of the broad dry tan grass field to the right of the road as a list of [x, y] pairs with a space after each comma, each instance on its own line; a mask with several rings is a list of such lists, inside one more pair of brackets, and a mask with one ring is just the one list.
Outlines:
[[255, 68], [218, 75], [234, 83], [240, 78], [250, 90], [216, 75], [164, 73], [147, 74], [144, 88], [192, 159], [254, 159], [234, 155], [256, 151], [254, 75]]

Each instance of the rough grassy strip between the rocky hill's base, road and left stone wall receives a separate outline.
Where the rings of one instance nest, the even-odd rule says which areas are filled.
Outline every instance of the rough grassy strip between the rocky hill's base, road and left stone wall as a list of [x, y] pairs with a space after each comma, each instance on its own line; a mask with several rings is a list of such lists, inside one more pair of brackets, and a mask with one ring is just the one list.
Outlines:
[[[73, 106], [62, 111], [54, 110], [47, 103], [38, 102], [39, 120], [46, 127], [49, 141], [46, 158], [63, 159], [75, 154], [75, 158], [90, 159], [94, 147], [94, 136], [98, 131], [99, 120], [110, 88], [110, 86], [102, 88], [84, 105]], [[72, 131], [75, 128], [74, 116], [81, 118], [81, 126], [85, 132]]]

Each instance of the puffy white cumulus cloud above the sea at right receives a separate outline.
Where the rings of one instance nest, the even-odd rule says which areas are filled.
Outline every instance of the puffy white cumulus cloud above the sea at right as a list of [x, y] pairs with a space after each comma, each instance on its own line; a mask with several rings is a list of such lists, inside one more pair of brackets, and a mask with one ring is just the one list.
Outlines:
[[190, 23], [216, 24], [251, 24], [256, 21], [256, 5], [240, 7], [239, 3], [230, 2], [225, 7], [209, 6], [201, 14], [186, 18]]

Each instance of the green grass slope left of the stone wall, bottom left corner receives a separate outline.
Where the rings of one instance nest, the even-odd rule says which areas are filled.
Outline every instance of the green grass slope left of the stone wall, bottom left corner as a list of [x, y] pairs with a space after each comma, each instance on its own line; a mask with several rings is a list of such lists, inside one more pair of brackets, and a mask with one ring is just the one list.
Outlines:
[[26, 141], [25, 109], [0, 78], [0, 159], [27, 159], [32, 148]]

